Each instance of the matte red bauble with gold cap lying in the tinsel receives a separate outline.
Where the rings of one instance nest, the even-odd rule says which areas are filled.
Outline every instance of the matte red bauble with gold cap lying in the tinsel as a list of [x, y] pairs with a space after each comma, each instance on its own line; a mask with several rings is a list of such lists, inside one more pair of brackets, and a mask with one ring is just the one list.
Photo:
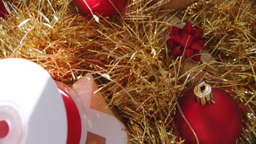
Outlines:
[[[179, 106], [194, 130], [200, 144], [234, 144], [241, 133], [240, 110], [232, 97], [220, 88], [211, 88], [205, 82], [195, 87], [181, 100]], [[181, 112], [175, 120], [185, 143], [197, 143], [195, 135]]]

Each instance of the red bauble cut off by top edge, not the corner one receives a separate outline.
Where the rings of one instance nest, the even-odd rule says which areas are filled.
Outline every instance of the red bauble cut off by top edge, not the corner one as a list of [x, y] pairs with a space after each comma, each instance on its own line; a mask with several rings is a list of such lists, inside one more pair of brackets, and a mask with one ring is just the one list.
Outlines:
[[[127, 0], [85, 0], [92, 12], [102, 16], [113, 16], [122, 12]], [[111, 1], [111, 3], [109, 2]], [[77, 8], [86, 15], [91, 15], [91, 11], [84, 0], [73, 0]], [[113, 6], [114, 5], [114, 6]]]

